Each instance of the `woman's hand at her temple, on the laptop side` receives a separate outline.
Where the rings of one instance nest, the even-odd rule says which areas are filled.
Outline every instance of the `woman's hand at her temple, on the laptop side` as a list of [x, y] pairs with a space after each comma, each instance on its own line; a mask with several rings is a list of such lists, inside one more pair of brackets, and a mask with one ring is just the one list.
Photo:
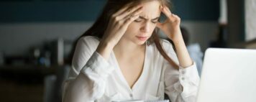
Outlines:
[[180, 32], [180, 17], [172, 14], [168, 6], [161, 6], [160, 10], [165, 14], [167, 19], [165, 19], [165, 22], [163, 23], [157, 22], [157, 27], [163, 30], [163, 32], [170, 40], [173, 40], [173, 42], [180, 40], [180, 37], [182, 38]]

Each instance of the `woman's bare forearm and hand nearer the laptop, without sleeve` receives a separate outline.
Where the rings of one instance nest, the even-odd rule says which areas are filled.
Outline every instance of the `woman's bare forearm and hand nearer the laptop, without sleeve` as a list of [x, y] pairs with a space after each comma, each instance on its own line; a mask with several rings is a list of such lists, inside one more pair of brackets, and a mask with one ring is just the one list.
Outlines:
[[161, 11], [163, 11], [163, 14], [166, 15], [167, 19], [163, 24], [158, 22], [157, 27], [162, 29], [170, 40], [173, 40], [180, 66], [187, 68], [192, 65], [193, 61], [188, 54], [188, 50], [180, 32], [180, 18], [177, 15], [172, 14], [167, 6], [162, 6]]

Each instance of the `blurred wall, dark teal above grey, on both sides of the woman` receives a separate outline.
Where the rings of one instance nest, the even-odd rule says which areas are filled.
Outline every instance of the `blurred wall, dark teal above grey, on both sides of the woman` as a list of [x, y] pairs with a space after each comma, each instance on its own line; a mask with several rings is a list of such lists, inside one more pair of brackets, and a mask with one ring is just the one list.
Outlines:
[[[29, 47], [63, 38], [75, 40], [98, 17], [104, 0], [35, 0], [0, 3], [0, 52], [23, 55]], [[205, 50], [215, 40], [219, 1], [173, 0], [173, 12]]]

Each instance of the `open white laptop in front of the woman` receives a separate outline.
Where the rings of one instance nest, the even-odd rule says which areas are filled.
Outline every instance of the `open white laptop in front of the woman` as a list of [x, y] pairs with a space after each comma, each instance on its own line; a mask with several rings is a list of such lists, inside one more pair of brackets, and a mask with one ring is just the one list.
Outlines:
[[196, 102], [256, 102], [256, 50], [207, 49]]

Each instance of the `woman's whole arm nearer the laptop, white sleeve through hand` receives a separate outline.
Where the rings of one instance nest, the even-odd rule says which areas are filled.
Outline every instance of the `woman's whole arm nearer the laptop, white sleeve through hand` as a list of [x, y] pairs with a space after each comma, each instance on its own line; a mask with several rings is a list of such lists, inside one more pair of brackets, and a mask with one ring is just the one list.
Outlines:
[[173, 40], [177, 55], [173, 47], [168, 47], [168, 55], [180, 66], [179, 70], [175, 70], [170, 64], [165, 64], [165, 93], [173, 102], [196, 101], [199, 76], [196, 64], [191, 60], [180, 32], [180, 18], [172, 14], [167, 6], [162, 7], [161, 11], [167, 19], [163, 24], [157, 23], [157, 27]]

